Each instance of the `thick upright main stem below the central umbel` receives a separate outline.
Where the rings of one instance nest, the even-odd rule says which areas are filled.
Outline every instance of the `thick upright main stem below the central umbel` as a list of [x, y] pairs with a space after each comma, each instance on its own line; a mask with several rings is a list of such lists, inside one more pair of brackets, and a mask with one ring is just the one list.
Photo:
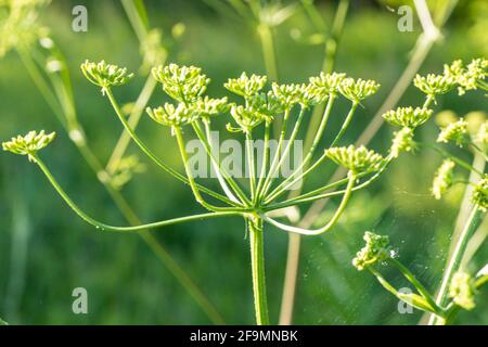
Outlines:
[[268, 299], [266, 296], [265, 244], [262, 237], [262, 219], [247, 218], [251, 244], [251, 268], [253, 272], [254, 307], [256, 323], [268, 325]]

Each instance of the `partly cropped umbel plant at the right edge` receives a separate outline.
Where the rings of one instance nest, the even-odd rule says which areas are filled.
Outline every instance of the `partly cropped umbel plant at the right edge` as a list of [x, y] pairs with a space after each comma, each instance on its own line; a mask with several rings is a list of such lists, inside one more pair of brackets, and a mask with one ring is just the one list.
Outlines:
[[[403, 149], [428, 147], [445, 157], [433, 179], [431, 192], [434, 198], [442, 198], [454, 183], [465, 183], [472, 187], [471, 213], [459, 236], [453, 237], [452, 252], [448, 257], [436, 296], [401, 264], [397, 252], [389, 246], [388, 236], [365, 232], [365, 246], [358, 252], [352, 260], [352, 265], [359, 271], [369, 270], [382, 286], [397, 298], [431, 313], [429, 324], [449, 324], [460, 309], [472, 310], [476, 305], [476, 295], [479, 294], [481, 286], [488, 282], [488, 266], [474, 274], [466, 269], [466, 262], [470, 260], [466, 259], [467, 245], [488, 209], [488, 174], [485, 170], [488, 160], [488, 119], [481, 114], [472, 120], [471, 126], [470, 121], [463, 118], [444, 121], [436, 139], [437, 145], [414, 142], [411, 130], [429, 118], [432, 111], [426, 111], [425, 107], [435, 101], [436, 97], [454, 88], [458, 89], [459, 95], [476, 89], [488, 91], [488, 85], [485, 81], [487, 73], [488, 61], [476, 59], [467, 65], [464, 65], [462, 61], [446, 65], [441, 75], [418, 75], [413, 82], [426, 95], [423, 107], [415, 110], [412, 107], [398, 108], [387, 112], [383, 116], [387, 123], [402, 127], [396, 134], [394, 147], [396, 146], [395, 143]], [[438, 144], [471, 150], [475, 157], [481, 158], [481, 168], [452, 155]], [[454, 170], [458, 167], [471, 172], [470, 180], [454, 180]], [[473, 177], [476, 179], [473, 180]], [[485, 239], [481, 240], [481, 243], [484, 241]], [[399, 270], [418, 293], [406, 294], [395, 288], [382, 274], [382, 267], [384, 266], [394, 266]]]

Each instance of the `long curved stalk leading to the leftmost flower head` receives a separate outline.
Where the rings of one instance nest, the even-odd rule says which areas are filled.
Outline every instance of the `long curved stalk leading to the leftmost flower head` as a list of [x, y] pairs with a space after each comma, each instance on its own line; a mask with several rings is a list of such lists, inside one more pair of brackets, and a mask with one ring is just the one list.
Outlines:
[[30, 156], [34, 158], [36, 164], [39, 166], [39, 168], [42, 170], [42, 172], [48, 178], [51, 185], [56, 190], [56, 192], [60, 194], [60, 196], [66, 202], [66, 204], [86, 222], [89, 224], [92, 224], [99, 230], [102, 231], [116, 231], [116, 232], [132, 232], [132, 231], [141, 231], [146, 229], [154, 229], [154, 228], [160, 228], [166, 227], [170, 224], [181, 223], [185, 221], [192, 221], [192, 220], [202, 220], [202, 219], [209, 219], [209, 218], [216, 218], [216, 217], [223, 217], [223, 216], [241, 216], [241, 211], [219, 211], [219, 213], [208, 213], [208, 214], [201, 214], [201, 215], [193, 215], [193, 216], [187, 216], [187, 217], [179, 217], [174, 219], [167, 219], [162, 220], [153, 223], [147, 224], [141, 224], [136, 227], [114, 227], [108, 226], [105, 223], [102, 223], [89, 215], [87, 215], [75, 202], [70, 200], [70, 197], [66, 194], [66, 192], [61, 188], [61, 185], [57, 183], [57, 181], [52, 176], [51, 171], [48, 169], [48, 167], [44, 165], [44, 163], [37, 156], [36, 154], [30, 154]]

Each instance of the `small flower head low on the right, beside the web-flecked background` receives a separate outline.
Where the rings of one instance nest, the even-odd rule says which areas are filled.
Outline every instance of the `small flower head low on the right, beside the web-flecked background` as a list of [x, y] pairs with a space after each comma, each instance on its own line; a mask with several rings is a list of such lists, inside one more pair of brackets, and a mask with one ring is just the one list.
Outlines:
[[352, 259], [352, 265], [356, 269], [362, 271], [377, 261], [384, 261], [389, 258], [388, 236], [377, 235], [367, 231], [363, 240], [365, 241], [364, 247]]

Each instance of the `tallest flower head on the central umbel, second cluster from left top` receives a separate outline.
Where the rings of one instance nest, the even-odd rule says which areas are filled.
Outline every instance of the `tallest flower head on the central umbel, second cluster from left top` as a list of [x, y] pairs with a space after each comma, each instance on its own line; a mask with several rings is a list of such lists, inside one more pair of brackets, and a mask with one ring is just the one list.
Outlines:
[[210, 79], [202, 74], [202, 68], [195, 66], [159, 65], [152, 72], [153, 77], [163, 85], [163, 90], [187, 107], [203, 95], [210, 82]]

